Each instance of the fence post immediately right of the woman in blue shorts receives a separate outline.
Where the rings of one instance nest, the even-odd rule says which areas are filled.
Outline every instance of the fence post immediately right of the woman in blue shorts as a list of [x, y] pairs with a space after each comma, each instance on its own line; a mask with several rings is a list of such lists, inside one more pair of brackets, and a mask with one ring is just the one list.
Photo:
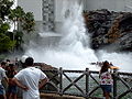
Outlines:
[[113, 99], [117, 99], [117, 75], [118, 75], [118, 72], [117, 69], [113, 69]]

